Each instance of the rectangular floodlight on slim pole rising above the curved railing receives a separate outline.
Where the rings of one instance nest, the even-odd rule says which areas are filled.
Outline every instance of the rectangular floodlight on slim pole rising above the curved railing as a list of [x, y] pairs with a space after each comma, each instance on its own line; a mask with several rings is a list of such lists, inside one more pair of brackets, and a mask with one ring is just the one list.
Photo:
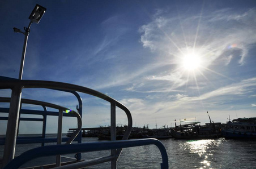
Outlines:
[[41, 20], [42, 16], [44, 15], [46, 11], [45, 7], [42, 7], [40, 5], [36, 5], [31, 14], [29, 15], [28, 19], [30, 19], [30, 23], [28, 25], [28, 28], [24, 27], [25, 32], [22, 32], [18, 28], [14, 28], [14, 32], [16, 33], [22, 33], [25, 35], [24, 38], [24, 45], [23, 45], [23, 52], [22, 52], [22, 61], [20, 62], [20, 72], [19, 72], [19, 79], [22, 79], [22, 74], [23, 74], [23, 67], [24, 67], [24, 60], [25, 60], [25, 53], [27, 49], [27, 42], [28, 42], [28, 35], [30, 32], [30, 26], [32, 23], [38, 24], [39, 21]]

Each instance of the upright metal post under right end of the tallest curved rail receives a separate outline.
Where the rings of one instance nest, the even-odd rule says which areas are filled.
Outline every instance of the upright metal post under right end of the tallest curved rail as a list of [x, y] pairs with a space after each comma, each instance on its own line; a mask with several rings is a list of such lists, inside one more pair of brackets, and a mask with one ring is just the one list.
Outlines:
[[[111, 103], [111, 112], [110, 112], [110, 134], [111, 134], [111, 141], [114, 141], [117, 139], [117, 134], [116, 134], [116, 103], [112, 102]], [[114, 156], [111, 160], [111, 168], [116, 169], [117, 168], [117, 152], [116, 149], [111, 150], [111, 155]]]

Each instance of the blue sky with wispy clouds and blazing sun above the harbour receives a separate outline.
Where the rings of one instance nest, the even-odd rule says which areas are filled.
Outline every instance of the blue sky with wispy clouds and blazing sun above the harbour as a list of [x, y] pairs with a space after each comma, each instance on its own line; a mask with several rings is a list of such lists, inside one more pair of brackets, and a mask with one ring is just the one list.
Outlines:
[[[23, 79], [100, 91], [129, 108], [134, 127], [256, 117], [256, 1], [4, 0], [1, 76], [19, 77], [24, 35], [12, 28], [27, 27], [37, 3], [46, 12], [31, 25]], [[109, 103], [81, 97], [83, 127], [108, 126]], [[74, 110], [78, 104], [71, 94], [46, 89], [25, 88], [22, 98]], [[57, 132], [57, 121], [49, 118], [46, 132]], [[63, 132], [76, 126], [75, 119], [64, 121]], [[117, 124], [127, 124], [120, 110]], [[20, 132], [40, 127], [22, 122]]]

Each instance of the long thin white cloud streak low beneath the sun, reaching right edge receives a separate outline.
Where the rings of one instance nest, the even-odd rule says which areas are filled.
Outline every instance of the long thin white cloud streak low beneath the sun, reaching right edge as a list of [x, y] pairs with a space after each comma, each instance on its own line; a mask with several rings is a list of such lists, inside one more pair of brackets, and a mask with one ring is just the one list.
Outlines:
[[[155, 112], [155, 109], [161, 109], [162, 112], [168, 112], [173, 109], [197, 109], [200, 107], [199, 103], [203, 106], [221, 106], [223, 103], [228, 103], [234, 100], [247, 99], [247, 95], [254, 94], [253, 88], [256, 87], [256, 78], [245, 79], [238, 83], [233, 83], [225, 87], [220, 87], [214, 91], [206, 92], [200, 96], [188, 96], [185, 94], [170, 95], [165, 99], [159, 98], [161, 102], [151, 103], [148, 112]], [[136, 100], [136, 99], [133, 99]], [[139, 103], [142, 100], [139, 101]], [[144, 101], [146, 102], [146, 101]], [[127, 105], [131, 105], [126, 101]], [[146, 103], [144, 103], [146, 104]], [[251, 106], [255, 106], [251, 104]], [[134, 107], [133, 107], [134, 108]], [[136, 109], [136, 111], [138, 111]]]

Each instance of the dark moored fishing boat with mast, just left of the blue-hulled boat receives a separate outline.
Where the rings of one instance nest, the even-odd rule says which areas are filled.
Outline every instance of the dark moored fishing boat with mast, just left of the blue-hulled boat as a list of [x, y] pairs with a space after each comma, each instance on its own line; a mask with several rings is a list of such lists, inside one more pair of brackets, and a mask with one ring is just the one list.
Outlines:
[[221, 137], [221, 123], [214, 123], [208, 115], [210, 123], [200, 125], [200, 122], [181, 121], [185, 124], [171, 129], [174, 139], [215, 139]]

